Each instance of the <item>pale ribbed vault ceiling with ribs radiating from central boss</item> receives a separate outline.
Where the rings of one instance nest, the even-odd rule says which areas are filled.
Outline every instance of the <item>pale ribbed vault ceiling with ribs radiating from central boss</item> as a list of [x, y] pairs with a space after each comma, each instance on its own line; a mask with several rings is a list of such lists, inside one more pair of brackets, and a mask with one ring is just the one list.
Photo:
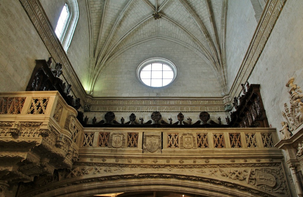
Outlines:
[[[155, 20], [153, 13], [160, 13]], [[227, 0], [90, 0], [91, 64], [88, 90], [123, 51], [151, 38], [181, 44], [205, 60], [226, 87]]]

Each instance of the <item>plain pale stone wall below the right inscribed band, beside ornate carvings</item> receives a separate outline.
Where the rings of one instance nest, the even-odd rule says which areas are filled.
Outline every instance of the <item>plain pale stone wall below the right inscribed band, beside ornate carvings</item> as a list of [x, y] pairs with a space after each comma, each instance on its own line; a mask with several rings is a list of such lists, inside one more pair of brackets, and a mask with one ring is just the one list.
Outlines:
[[[248, 81], [261, 84], [260, 91], [268, 123], [281, 130], [281, 121], [285, 121], [281, 112], [284, 103], [288, 103], [290, 77], [294, 84], [303, 86], [303, 26], [301, 21], [303, 2], [287, 1], [275, 24], [265, 48], [255, 65]], [[280, 137], [280, 136], [279, 136]]]

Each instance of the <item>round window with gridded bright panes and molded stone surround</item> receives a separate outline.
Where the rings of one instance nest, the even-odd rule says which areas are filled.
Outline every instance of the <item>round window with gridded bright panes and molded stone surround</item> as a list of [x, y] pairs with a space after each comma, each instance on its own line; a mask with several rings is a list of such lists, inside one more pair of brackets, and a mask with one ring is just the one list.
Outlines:
[[177, 75], [175, 65], [164, 58], [155, 57], [143, 61], [138, 69], [138, 79], [151, 87], [162, 87], [170, 84]]

